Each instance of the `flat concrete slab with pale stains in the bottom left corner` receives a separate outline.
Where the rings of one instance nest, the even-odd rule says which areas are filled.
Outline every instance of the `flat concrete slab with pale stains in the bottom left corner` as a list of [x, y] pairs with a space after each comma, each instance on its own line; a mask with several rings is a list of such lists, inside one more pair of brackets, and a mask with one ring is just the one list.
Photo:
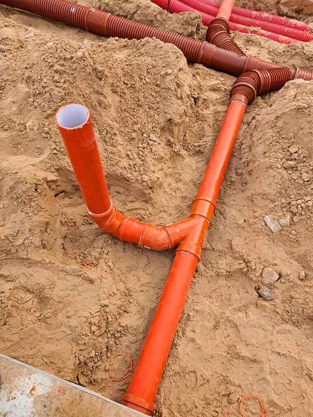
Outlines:
[[1, 417], [139, 417], [141, 413], [0, 354]]

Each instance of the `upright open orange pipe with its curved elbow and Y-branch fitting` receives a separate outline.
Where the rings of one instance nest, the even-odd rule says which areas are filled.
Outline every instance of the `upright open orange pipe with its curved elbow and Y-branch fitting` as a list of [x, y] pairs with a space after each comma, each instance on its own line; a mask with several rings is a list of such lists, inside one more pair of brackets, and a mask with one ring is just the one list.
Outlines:
[[78, 104], [65, 106], [56, 114], [56, 122], [86, 210], [99, 229], [146, 249], [161, 251], [178, 246], [177, 250], [190, 252], [200, 260], [202, 245], [195, 231], [202, 228], [203, 222], [210, 224], [215, 209], [212, 202], [198, 197], [187, 219], [162, 227], [125, 217], [111, 201], [88, 109]]

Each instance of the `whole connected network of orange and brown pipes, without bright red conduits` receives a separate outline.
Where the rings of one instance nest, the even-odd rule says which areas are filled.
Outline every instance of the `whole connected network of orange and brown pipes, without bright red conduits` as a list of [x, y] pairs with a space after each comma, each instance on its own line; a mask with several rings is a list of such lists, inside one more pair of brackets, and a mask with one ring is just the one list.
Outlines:
[[223, 0], [216, 19], [209, 24], [208, 42], [131, 22], [67, 0], [0, 0], [0, 3], [106, 37], [138, 40], [158, 38], [175, 44], [191, 63], [201, 63], [214, 70], [238, 76], [232, 85], [227, 113], [191, 212], [187, 219], [163, 227], [154, 227], [150, 223], [125, 217], [113, 206], [88, 109], [71, 104], [56, 114], [58, 129], [79, 182], [86, 209], [98, 227], [124, 242], [136, 243], [150, 250], [176, 247], [166, 286], [129, 388], [123, 396], [123, 404], [127, 407], [150, 416], [246, 108], [257, 95], [279, 90], [294, 79], [312, 80], [313, 73], [300, 68], [280, 67], [246, 56], [230, 37], [228, 21], [234, 0]]

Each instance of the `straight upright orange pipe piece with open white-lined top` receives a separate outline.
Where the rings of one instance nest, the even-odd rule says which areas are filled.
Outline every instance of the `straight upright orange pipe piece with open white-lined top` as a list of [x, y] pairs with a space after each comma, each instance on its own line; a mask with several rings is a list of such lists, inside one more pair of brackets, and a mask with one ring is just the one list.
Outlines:
[[105, 213], [111, 199], [88, 108], [79, 104], [64, 106], [56, 113], [56, 123], [88, 210]]

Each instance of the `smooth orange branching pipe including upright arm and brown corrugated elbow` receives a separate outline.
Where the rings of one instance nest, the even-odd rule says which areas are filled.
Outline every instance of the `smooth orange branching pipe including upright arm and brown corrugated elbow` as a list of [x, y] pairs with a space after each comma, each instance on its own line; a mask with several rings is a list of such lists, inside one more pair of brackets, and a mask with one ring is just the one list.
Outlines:
[[111, 202], [90, 113], [78, 104], [65, 106], [56, 122], [70, 157], [90, 217], [100, 229], [130, 243], [153, 250], [177, 247], [166, 286], [152, 320], [143, 350], [131, 378], [123, 404], [150, 416], [168, 354], [175, 337], [188, 290], [200, 261], [205, 234], [215, 211], [227, 165], [246, 106], [258, 94], [282, 88], [293, 79], [288, 68], [252, 70], [239, 76], [232, 86], [230, 104], [216, 140], [207, 170], [186, 220], [154, 227], [124, 217]]

